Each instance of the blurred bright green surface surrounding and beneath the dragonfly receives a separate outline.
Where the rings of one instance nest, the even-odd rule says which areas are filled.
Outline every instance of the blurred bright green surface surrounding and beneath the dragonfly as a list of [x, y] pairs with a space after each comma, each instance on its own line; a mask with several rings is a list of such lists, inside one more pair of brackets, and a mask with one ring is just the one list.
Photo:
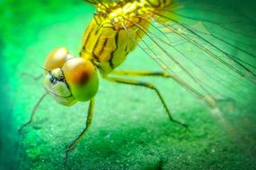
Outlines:
[[[34, 81], [23, 72], [40, 75], [45, 56], [56, 47], [68, 47], [78, 55], [93, 11], [82, 0], [0, 1], [0, 169], [66, 168], [62, 166], [66, 146], [84, 128], [88, 104], [66, 108], [47, 97], [35, 122], [18, 136], [17, 129], [44, 92], [41, 80]], [[159, 70], [140, 53], [131, 53], [137, 59], [128, 57], [121, 68]], [[251, 148], [229, 138], [207, 108], [185, 89], [172, 80], [144, 80], [154, 81], [174, 117], [190, 129], [170, 123], [153, 91], [101, 80], [92, 129], [70, 154], [67, 168], [256, 168], [255, 155], [248, 151]]]

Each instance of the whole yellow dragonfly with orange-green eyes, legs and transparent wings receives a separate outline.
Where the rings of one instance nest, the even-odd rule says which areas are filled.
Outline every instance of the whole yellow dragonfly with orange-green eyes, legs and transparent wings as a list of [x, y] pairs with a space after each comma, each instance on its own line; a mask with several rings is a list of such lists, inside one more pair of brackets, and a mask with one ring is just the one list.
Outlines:
[[[92, 124], [99, 75], [106, 81], [154, 90], [170, 120], [184, 127], [185, 123], [173, 119], [154, 83], [130, 77], [159, 76], [176, 81], [204, 101], [226, 128], [232, 126], [223, 118], [221, 104], [234, 101], [245, 106], [243, 95], [255, 96], [256, 38], [252, 30], [256, 23], [243, 10], [222, 1], [86, 2], [96, 11], [85, 30], [80, 56], [70, 54], [66, 47], [58, 47], [47, 56], [43, 67], [47, 92], [34, 106], [29, 122], [20, 128], [22, 132], [32, 122], [40, 102], [49, 94], [65, 106], [89, 101], [84, 131], [66, 148], [66, 160]], [[117, 71], [135, 48], [141, 48], [163, 72]]]

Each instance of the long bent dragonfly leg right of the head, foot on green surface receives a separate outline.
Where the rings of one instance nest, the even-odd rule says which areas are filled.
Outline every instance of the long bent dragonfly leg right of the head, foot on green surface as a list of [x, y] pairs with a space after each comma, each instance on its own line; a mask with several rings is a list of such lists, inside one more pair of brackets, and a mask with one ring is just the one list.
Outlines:
[[120, 78], [112, 78], [112, 77], [105, 77], [105, 79], [107, 81], [118, 82], [118, 83], [122, 83], [122, 84], [130, 84], [130, 85], [142, 86], [142, 87], [146, 87], [148, 89], [153, 89], [156, 92], [158, 98], [161, 100], [161, 102], [163, 104], [163, 107], [165, 108], [165, 110], [166, 110], [170, 120], [173, 123], [179, 123], [182, 126], [187, 127], [187, 124], [181, 123], [181, 122], [176, 121], [175, 119], [172, 118], [170, 110], [168, 109], [166, 103], [164, 102], [161, 93], [159, 92], [158, 89], [155, 88], [154, 84], [143, 82], [143, 81], [134, 81], [134, 80], [127, 80], [127, 79], [120, 79]]

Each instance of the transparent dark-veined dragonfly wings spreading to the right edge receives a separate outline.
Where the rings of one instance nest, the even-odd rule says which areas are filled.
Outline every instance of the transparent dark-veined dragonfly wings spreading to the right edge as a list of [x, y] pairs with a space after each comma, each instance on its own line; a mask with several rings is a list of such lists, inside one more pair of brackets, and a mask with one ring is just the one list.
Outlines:
[[214, 108], [211, 113], [229, 132], [241, 138], [250, 133], [245, 143], [256, 136], [253, 10], [244, 1], [176, 0], [172, 8], [148, 16], [153, 20], [149, 30], [137, 25], [146, 34], [138, 46]]

